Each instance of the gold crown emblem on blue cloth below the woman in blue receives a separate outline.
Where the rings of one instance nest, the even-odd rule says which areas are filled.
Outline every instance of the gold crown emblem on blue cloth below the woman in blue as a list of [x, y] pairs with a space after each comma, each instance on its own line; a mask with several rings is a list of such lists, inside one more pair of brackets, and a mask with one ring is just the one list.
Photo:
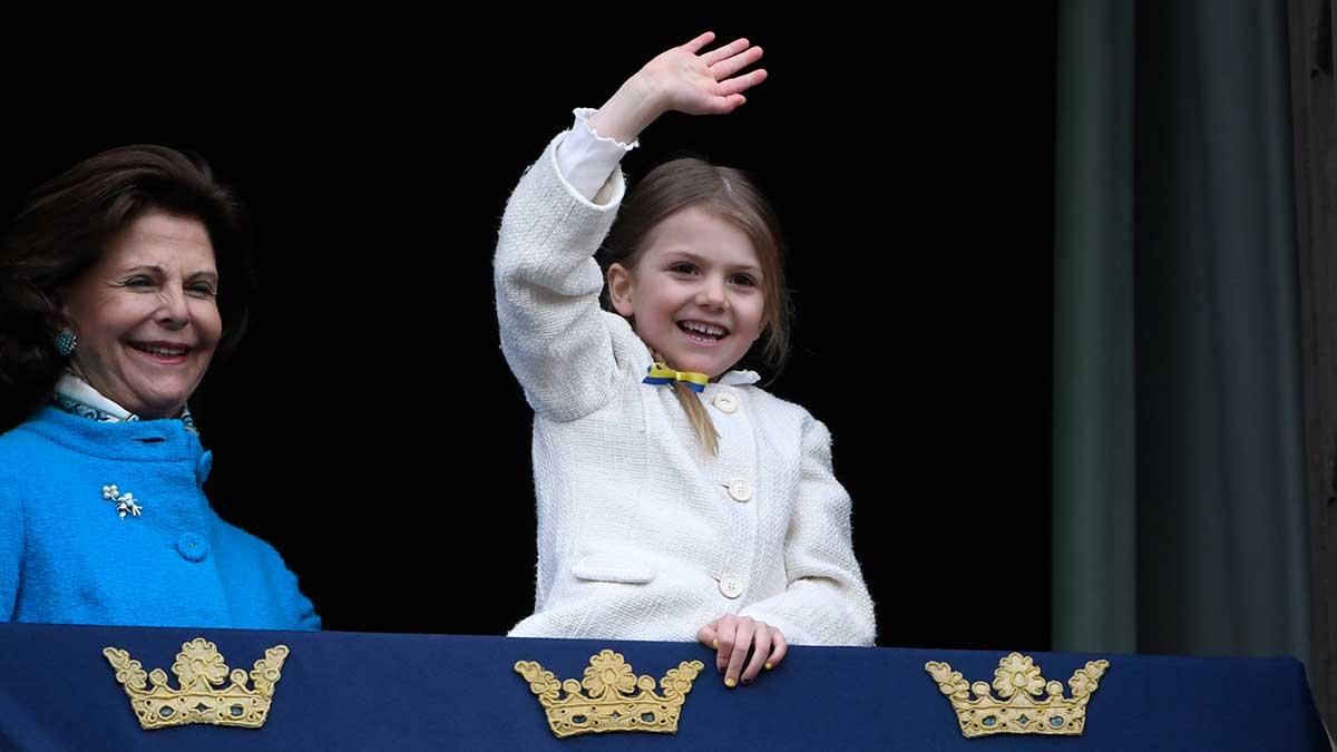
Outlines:
[[[275, 645], [255, 661], [250, 672], [251, 689], [246, 688], [246, 672], [242, 669], [231, 672], [231, 685], [215, 689], [227, 677], [227, 664], [218, 654], [218, 648], [203, 637], [183, 642], [180, 653], [176, 653], [171, 672], [176, 674], [180, 689], [167, 686], [167, 674], [162, 669], [144, 674], [139, 661], [131, 660], [126, 650], [103, 648], [102, 654], [116, 669], [116, 681], [126, 688], [130, 707], [146, 729], [187, 724], [259, 728], [269, 717], [269, 702], [287, 658], [287, 646]], [[146, 676], [152, 689], [146, 689]]]

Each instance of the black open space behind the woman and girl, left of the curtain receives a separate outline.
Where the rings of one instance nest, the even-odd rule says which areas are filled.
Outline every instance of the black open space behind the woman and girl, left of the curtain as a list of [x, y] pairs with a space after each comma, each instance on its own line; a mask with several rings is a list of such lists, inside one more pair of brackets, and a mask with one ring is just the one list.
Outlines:
[[746, 35], [770, 80], [727, 118], [666, 116], [624, 169], [701, 154], [777, 206], [797, 321], [771, 391], [832, 430], [878, 642], [1047, 649], [1054, 3], [520, 15], [28, 66], [0, 209], [106, 147], [203, 154], [251, 210], [262, 296], [191, 403], [215, 507], [328, 629], [503, 633], [535, 562], [531, 413], [492, 310], [505, 198], [572, 107], [705, 28]]

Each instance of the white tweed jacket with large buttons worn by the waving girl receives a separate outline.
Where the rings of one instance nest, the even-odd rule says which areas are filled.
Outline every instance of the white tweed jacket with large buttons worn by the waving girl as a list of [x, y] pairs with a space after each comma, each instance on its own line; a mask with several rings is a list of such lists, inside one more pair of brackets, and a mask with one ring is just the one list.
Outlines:
[[710, 456], [673, 389], [642, 384], [650, 352], [600, 309], [594, 260], [623, 178], [582, 198], [556, 166], [563, 136], [511, 195], [493, 265], [501, 349], [535, 411], [537, 585], [511, 636], [693, 641], [737, 613], [792, 644], [870, 645], [826, 427], [730, 372], [699, 395]]

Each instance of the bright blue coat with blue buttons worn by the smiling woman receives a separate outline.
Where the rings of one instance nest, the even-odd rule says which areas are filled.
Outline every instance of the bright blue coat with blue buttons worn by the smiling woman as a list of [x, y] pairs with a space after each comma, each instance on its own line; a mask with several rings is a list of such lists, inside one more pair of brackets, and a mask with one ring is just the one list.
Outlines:
[[[211, 458], [179, 420], [53, 407], [0, 436], [0, 618], [320, 629], [278, 553], [209, 506]], [[106, 486], [140, 515], [120, 516]]]

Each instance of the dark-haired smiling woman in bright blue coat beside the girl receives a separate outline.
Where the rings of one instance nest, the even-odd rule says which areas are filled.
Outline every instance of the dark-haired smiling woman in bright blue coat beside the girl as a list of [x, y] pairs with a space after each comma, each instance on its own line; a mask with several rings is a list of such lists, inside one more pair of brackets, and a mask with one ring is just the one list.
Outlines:
[[223, 522], [186, 400], [246, 328], [250, 237], [209, 166], [115, 149], [0, 241], [0, 618], [320, 629]]

